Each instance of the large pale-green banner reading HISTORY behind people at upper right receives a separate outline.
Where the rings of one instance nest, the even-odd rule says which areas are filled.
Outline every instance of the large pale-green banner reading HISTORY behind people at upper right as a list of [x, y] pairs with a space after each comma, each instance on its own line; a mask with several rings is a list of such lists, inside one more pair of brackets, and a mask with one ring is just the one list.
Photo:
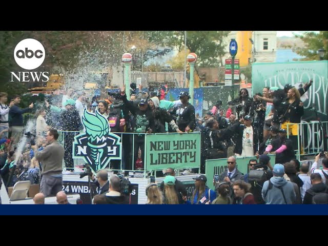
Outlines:
[[[310, 111], [315, 106], [322, 121], [327, 120], [328, 61], [293, 61], [286, 63], [254, 63], [252, 65], [253, 95], [262, 92], [263, 87], [279, 87], [286, 84], [308, 83], [313, 79], [309, 93], [302, 96], [305, 113], [303, 118], [313, 115]], [[309, 109], [309, 110], [306, 110]]]

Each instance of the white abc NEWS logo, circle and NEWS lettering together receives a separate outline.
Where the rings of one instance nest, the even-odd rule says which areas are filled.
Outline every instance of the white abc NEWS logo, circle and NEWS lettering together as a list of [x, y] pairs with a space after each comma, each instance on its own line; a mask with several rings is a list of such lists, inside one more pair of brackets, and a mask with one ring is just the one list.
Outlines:
[[[19, 67], [26, 70], [33, 70], [42, 65], [45, 60], [46, 52], [43, 45], [33, 38], [27, 38], [20, 41], [14, 50], [14, 58]], [[11, 82], [14, 81], [14, 77], [18, 81], [29, 82], [39, 81], [42, 78], [43, 82], [49, 80], [48, 72], [18, 72], [15, 74], [11, 72]], [[23, 79], [23, 80], [21, 80]]]

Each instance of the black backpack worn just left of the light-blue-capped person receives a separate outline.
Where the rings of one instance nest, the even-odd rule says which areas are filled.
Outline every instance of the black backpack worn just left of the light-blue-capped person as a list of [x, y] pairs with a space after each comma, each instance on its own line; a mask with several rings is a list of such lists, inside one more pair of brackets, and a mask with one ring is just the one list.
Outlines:
[[254, 195], [256, 204], [264, 204], [262, 198], [263, 183], [267, 181], [267, 172], [264, 170], [250, 170], [248, 182], [251, 184], [251, 193]]

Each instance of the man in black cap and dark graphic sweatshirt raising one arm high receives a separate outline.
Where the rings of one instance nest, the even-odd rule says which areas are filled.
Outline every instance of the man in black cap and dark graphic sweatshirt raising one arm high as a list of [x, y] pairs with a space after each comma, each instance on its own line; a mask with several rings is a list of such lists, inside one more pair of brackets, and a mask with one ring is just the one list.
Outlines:
[[[138, 133], [134, 137], [134, 155], [132, 163], [135, 163], [137, 160], [139, 148], [141, 149], [142, 163], [145, 163], [145, 133], [155, 133], [155, 120], [153, 112], [148, 105], [148, 100], [144, 98], [139, 101], [138, 107], [135, 107], [133, 103], [127, 99], [125, 94], [125, 86], [121, 89], [121, 95], [123, 103], [134, 116], [131, 121], [132, 131], [134, 133]], [[128, 166], [130, 165], [131, 164], [128, 162]]]

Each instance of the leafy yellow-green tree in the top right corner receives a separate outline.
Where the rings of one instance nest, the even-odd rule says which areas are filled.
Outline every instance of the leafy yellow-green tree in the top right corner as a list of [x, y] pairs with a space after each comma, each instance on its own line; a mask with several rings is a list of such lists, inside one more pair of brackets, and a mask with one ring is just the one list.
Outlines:
[[301, 60], [319, 60], [319, 49], [324, 49], [326, 52], [323, 59], [328, 59], [328, 31], [304, 32], [300, 35], [295, 35], [303, 40], [305, 47], [296, 49], [295, 52], [301, 56], [305, 56]]

